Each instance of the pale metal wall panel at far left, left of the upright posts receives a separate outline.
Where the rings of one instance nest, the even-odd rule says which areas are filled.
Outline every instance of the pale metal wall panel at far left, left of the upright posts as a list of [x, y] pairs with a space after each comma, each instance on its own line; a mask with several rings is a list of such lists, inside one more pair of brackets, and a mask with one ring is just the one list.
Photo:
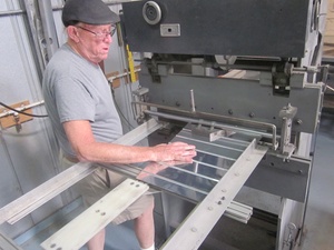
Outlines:
[[[17, 1], [1, 1], [0, 10], [19, 10]], [[29, 43], [23, 16], [0, 16], [0, 101], [12, 104], [23, 100], [30, 103], [42, 100], [41, 82]], [[33, 113], [46, 113], [43, 107]], [[1, 129], [0, 133], [0, 207], [14, 200], [58, 172], [57, 144], [48, 119], [33, 118], [16, 128]], [[0, 230], [16, 237], [62, 207], [57, 197], [38, 211], [14, 226], [2, 224]]]

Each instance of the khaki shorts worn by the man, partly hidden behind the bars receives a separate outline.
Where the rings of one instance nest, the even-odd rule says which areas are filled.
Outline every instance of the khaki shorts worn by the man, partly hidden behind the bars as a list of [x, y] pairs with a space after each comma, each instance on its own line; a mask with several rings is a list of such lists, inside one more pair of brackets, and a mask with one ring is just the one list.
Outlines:
[[[60, 153], [60, 164], [62, 170], [73, 166], [75, 163], [66, 159]], [[119, 173], [109, 171], [102, 167], [98, 167], [97, 170], [90, 173], [88, 177], [79, 181], [72, 188], [76, 192], [82, 196], [85, 206], [88, 208], [96, 201], [106, 196], [116, 186], [121, 183], [126, 178]], [[112, 223], [119, 224], [127, 220], [136, 219], [141, 216], [144, 211], [150, 207], [154, 202], [151, 194], [144, 194], [129, 206], [124, 212], [121, 212]]]

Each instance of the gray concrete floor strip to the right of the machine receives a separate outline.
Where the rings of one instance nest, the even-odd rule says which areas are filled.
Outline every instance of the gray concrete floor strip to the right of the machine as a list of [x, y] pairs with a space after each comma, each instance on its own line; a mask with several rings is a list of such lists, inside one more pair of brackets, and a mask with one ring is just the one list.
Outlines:
[[324, 111], [316, 139], [305, 230], [297, 250], [334, 249], [334, 111]]

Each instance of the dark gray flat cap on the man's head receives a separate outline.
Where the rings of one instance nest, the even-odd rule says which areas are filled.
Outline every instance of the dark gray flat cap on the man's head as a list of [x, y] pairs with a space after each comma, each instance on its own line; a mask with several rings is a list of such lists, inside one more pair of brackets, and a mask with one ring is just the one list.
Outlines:
[[67, 0], [61, 20], [65, 27], [85, 22], [101, 26], [119, 22], [119, 16], [112, 12], [101, 0]]

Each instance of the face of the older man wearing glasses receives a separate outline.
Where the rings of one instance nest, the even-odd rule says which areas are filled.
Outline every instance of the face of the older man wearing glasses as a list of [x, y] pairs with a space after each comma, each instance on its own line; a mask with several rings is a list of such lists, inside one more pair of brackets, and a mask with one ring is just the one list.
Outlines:
[[107, 59], [110, 43], [112, 42], [111, 32], [115, 26], [90, 26], [79, 23], [76, 26], [79, 42], [78, 52], [92, 63], [99, 63]]

